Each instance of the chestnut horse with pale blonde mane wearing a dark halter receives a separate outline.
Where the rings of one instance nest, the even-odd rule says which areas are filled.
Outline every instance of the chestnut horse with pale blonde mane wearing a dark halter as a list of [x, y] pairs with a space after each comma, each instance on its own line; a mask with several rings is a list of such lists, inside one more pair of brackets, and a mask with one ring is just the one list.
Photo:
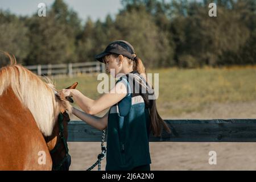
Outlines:
[[65, 110], [72, 114], [71, 105], [55, 95], [49, 79], [8, 56], [11, 64], [0, 69], [0, 170], [68, 169]]

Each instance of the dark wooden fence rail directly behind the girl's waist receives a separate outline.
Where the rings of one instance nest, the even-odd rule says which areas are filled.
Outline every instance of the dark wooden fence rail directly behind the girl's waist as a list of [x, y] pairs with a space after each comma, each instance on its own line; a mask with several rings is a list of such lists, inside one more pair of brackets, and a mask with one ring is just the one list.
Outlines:
[[[171, 134], [150, 136], [150, 142], [256, 142], [256, 119], [166, 120]], [[83, 121], [68, 125], [69, 142], [100, 142], [102, 132]]]

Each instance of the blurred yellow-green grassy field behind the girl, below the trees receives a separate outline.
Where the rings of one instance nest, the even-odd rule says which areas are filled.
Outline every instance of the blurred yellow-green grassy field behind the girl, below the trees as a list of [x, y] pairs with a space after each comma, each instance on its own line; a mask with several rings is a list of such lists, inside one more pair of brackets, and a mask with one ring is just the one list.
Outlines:
[[[232, 104], [256, 101], [256, 67], [204, 68], [204, 69], [153, 69], [159, 73], [158, 110], [164, 118], [179, 117], [199, 112], [212, 104]], [[57, 89], [79, 82], [86, 96], [96, 99], [96, 75], [73, 78], [55, 78]], [[256, 110], [256, 109], [255, 109]]]

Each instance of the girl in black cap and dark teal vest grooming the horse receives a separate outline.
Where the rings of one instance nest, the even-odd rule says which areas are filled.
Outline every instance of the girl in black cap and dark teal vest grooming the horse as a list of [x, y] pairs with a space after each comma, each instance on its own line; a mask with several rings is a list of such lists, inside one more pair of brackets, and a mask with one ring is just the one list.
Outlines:
[[[147, 84], [142, 61], [124, 40], [110, 43], [96, 59], [119, 78], [114, 88], [97, 100], [77, 89], [63, 89], [60, 97], [73, 97], [83, 111], [73, 107], [72, 113], [88, 125], [98, 130], [108, 127], [106, 170], [150, 170], [150, 131], [159, 136], [163, 127], [169, 133], [170, 129], [158, 114], [155, 99], [150, 98], [154, 90]], [[123, 76], [119, 77], [121, 73]], [[108, 107], [104, 117], [93, 116]]]

